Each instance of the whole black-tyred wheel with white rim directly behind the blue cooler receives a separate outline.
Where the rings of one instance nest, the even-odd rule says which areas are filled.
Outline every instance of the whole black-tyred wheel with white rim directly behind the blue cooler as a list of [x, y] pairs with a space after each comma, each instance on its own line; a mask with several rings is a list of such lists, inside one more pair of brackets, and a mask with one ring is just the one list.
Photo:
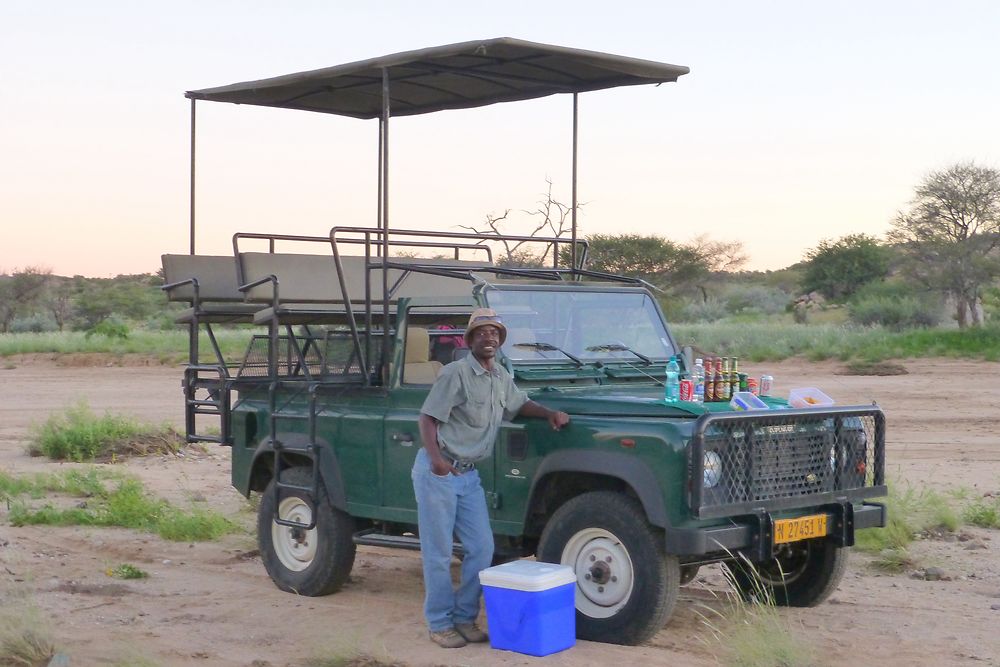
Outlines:
[[576, 636], [639, 644], [656, 634], [677, 603], [680, 567], [662, 531], [638, 502], [595, 491], [568, 501], [549, 519], [538, 560], [576, 572]]

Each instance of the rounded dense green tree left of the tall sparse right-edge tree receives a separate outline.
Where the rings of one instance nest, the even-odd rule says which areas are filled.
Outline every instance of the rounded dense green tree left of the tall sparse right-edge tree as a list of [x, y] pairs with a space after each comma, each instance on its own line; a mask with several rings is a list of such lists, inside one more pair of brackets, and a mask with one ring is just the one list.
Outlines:
[[873, 236], [849, 234], [837, 241], [824, 239], [806, 254], [802, 290], [843, 300], [888, 273], [888, 248]]

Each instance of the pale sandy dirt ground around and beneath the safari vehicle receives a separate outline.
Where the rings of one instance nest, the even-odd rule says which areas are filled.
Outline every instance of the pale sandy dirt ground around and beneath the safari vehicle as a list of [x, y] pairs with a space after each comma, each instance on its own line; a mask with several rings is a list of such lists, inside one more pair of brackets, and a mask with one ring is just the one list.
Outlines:
[[[66, 362], [68, 365], [61, 365]], [[32, 423], [85, 400], [154, 422], [182, 424], [179, 368], [86, 365], [45, 357], [0, 368], [0, 469], [53, 471], [25, 454]], [[102, 362], [103, 363], [103, 362]], [[838, 404], [884, 408], [891, 477], [941, 489], [1000, 493], [1000, 364], [903, 362], [907, 375], [841, 375], [842, 366], [786, 361], [750, 365], [776, 378], [776, 393], [815, 386]], [[212, 446], [183, 457], [134, 459], [121, 467], [173, 502], [194, 503], [250, 525], [248, 504], [229, 485], [229, 451]], [[175, 543], [122, 529], [13, 528], [0, 507], [0, 601], [33, 605], [71, 664], [279, 667], [312, 656], [368, 654], [407, 665], [713, 665], [719, 646], [703, 614], [719, 609], [725, 585], [706, 568], [682, 589], [677, 610], [652, 641], [623, 647], [579, 641], [546, 658], [488, 645], [445, 651], [426, 639], [419, 554], [360, 547], [344, 590], [299, 598], [275, 588], [249, 535]], [[912, 549], [920, 568], [884, 575], [853, 554], [840, 589], [814, 609], [782, 610], [825, 665], [1000, 665], [1000, 531], [962, 529]], [[119, 581], [108, 567], [149, 572]]]

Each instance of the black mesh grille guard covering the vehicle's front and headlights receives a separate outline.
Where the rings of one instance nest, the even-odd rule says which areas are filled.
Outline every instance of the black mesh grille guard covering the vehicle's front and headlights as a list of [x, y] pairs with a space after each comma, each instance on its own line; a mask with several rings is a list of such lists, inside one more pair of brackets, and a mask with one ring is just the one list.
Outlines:
[[688, 470], [699, 519], [884, 496], [885, 416], [878, 407], [706, 414]]

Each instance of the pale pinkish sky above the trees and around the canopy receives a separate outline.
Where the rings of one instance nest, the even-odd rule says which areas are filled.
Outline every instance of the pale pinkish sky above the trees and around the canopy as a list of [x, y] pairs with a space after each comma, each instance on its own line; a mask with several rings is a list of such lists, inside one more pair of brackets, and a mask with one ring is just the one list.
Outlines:
[[[931, 170], [1000, 167], [998, 35], [990, 0], [0, 0], [0, 272], [187, 252], [186, 90], [493, 37], [690, 67], [580, 96], [580, 233], [705, 233], [783, 268], [881, 235]], [[546, 178], [568, 203], [571, 100], [394, 119], [390, 224], [479, 224], [532, 208]], [[376, 132], [199, 103], [198, 251], [374, 226]]]

